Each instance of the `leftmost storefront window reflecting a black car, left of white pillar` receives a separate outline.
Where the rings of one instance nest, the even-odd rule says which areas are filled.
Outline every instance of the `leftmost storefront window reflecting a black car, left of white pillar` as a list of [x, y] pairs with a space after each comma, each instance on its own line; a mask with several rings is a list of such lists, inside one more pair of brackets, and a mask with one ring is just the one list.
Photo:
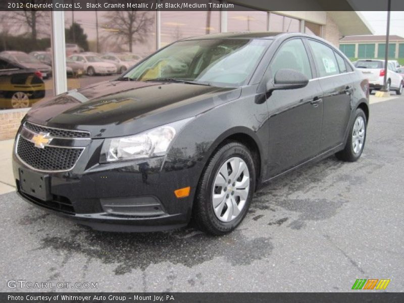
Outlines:
[[51, 13], [0, 12], [0, 110], [31, 107], [53, 97]]

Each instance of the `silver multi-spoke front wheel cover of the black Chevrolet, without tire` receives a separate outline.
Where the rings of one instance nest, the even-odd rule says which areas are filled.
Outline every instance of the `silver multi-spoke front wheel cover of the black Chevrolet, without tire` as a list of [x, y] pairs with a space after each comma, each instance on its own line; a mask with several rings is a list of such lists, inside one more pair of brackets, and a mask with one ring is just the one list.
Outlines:
[[212, 206], [222, 222], [237, 218], [245, 206], [249, 192], [249, 171], [239, 157], [228, 159], [216, 174], [212, 190]]

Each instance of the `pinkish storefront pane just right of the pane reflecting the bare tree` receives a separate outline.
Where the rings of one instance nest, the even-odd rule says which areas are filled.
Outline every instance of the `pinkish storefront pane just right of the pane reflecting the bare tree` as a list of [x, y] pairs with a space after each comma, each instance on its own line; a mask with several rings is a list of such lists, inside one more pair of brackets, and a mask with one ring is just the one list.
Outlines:
[[179, 39], [220, 32], [220, 12], [161, 12], [161, 47]]

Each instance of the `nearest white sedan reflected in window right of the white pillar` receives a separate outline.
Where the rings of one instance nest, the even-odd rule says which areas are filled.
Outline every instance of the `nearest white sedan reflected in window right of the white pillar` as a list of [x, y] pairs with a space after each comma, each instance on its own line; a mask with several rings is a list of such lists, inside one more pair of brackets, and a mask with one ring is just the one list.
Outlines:
[[117, 72], [115, 64], [103, 61], [97, 56], [88, 54], [77, 54], [69, 57], [74, 62], [83, 64], [84, 71], [88, 76], [111, 75]]

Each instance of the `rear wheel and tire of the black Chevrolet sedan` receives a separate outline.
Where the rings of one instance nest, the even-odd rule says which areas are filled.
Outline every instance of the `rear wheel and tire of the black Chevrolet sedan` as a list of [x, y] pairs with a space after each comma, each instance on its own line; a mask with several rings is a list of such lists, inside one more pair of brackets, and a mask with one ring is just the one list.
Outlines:
[[[342, 161], [355, 162], [361, 155], [366, 142], [367, 122], [363, 110], [357, 109], [354, 123], [349, 128], [348, 139], [344, 149], [335, 156]], [[362, 135], [361, 135], [362, 134]]]

